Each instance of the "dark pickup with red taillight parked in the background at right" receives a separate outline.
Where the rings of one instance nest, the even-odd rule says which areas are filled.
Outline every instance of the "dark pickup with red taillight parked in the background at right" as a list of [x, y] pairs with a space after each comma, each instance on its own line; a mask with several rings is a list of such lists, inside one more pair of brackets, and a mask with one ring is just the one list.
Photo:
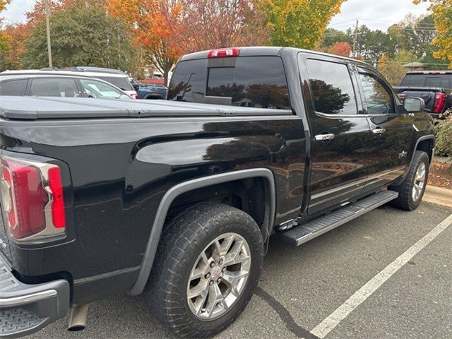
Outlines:
[[421, 97], [425, 111], [440, 118], [452, 108], [452, 71], [411, 71], [394, 90], [402, 100], [404, 97]]

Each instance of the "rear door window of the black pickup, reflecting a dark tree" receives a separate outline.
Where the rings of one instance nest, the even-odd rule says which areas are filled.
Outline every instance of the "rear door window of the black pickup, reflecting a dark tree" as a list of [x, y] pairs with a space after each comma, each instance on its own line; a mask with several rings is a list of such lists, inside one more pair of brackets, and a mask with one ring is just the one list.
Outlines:
[[357, 114], [355, 90], [346, 64], [308, 59], [306, 66], [316, 112]]

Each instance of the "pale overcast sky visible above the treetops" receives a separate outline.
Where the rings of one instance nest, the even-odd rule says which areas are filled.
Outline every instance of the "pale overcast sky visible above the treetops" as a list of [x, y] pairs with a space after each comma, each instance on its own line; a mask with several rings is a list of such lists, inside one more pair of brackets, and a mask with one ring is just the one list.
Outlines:
[[[31, 11], [34, 4], [35, 0], [12, 0], [2, 15], [6, 23], [23, 23], [25, 12]], [[346, 30], [355, 25], [358, 19], [359, 25], [384, 31], [393, 23], [403, 20], [408, 13], [416, 16], [427, 14], [428, 6], [412, 4], [412, 0], [347, 0], [340, 14], [333, 17], [328, 27]]]

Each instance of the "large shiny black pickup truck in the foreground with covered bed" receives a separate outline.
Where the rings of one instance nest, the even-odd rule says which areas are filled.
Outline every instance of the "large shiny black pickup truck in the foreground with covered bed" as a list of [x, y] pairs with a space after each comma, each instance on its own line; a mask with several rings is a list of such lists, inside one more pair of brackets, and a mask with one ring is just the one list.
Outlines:
[[198, 52], [168, 98], [0, 97], [0, 338], [69, 310], [84, 328], [89, 303], [123, 292], [207, 338], [246, 306], [272, 234], [298, 246], [420, 204], [432, 117], [360, 61]]

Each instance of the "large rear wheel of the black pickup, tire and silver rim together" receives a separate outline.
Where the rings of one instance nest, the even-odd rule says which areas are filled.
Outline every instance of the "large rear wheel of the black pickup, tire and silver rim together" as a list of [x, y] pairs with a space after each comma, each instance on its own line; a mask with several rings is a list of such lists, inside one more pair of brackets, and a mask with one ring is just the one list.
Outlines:
[[242, 210], [191, 206], [170, 218], [145, 290], [157, 319], [183, 338], [209, 338], [243, 311], [258, 282], [263, 240]]

